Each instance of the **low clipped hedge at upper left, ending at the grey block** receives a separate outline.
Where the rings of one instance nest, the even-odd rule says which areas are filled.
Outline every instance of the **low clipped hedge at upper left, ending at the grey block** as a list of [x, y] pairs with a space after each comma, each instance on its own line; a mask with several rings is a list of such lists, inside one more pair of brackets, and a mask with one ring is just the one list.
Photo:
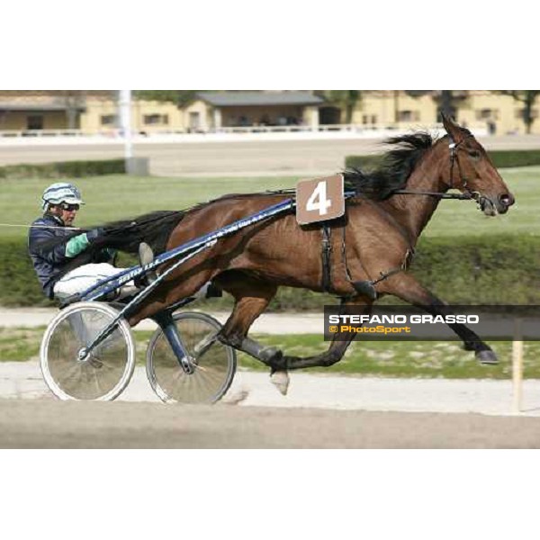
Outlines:
[[22, 164], [0, 167], [0, 178], [83, 178], [118, 175], [126, 172], [124, 159], [62, 161], [58, 163]]

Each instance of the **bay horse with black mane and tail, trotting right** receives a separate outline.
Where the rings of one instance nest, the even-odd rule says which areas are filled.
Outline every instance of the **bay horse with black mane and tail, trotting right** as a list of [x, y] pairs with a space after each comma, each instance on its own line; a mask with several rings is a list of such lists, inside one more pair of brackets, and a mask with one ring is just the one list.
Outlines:
[[[347, 200], [346, 216], [329, 222], [331, 291], [343, 299], [343, 312], [350, 307], [355, 307], [356, 313], [371, 312], [374, 295], [355, 286], [370, 283], [377, 298], [391, 294], [430, 314], [444, 314], [445, 302], [405, 271], [422, 230], [437, 209], [438, 195], [451, 188], [469, 194], [488, 216], [506, 213], [514, 203], [473, 134], [446, 116], [443, 125], [447, 134], [440, 139], [423, 132], [389, 139], [393, 148], [372, 173], [357, 169], [344, 173], [355, 195]], [[187, 211], [154, 212], [119, 221], [104, 226], [107, 234], [94, 247], [136, 252], [139, 242], [145, 241], [160, 253], [291, 196], [286, 191], [226, 195]], [[387, 277], [377, 282], [382, 274]], [[247, 333], [278, 287], [322, 292], [322, 277], [321, 229], [299, 225], [291, 212], [241, 229], [193, 257], [141, 302], [129, 322], [135, 325], [211, 281], [235, 300], [220, 340], [268, 365], [286, 392], [287, 370], [336, 364], [356, 334], [340, 335], [318, 356], [295, 357], [263, 347]], [[449, 326], [481, 363], [497, 362], [491, 347], [471, 329], [463, 324]]]

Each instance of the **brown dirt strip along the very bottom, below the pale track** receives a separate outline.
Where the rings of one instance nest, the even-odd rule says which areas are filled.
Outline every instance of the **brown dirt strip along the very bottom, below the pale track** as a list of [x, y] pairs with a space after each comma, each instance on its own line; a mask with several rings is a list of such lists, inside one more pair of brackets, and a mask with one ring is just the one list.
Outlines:
[[0, 401], [4, 448], [538, 448], [540, 419]]

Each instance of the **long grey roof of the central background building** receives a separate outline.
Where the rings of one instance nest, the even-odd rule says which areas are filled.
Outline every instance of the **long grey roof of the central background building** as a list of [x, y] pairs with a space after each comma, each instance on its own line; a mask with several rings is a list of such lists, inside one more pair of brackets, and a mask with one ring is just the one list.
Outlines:
[[216, 107], [324, 103], [322, 98], [309, 92], [199, 92], [197, 97]]

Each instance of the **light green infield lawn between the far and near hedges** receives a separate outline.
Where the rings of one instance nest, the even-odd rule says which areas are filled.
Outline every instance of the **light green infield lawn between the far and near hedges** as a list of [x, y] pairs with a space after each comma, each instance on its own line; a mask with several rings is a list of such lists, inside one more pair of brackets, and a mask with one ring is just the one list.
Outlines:
[[[473, 202], [443, 201], [428, 224], [428, 237], [482, 234], [540, 234], [540, 167], [501, 171], [516, 205], [506, 216], [486, 218]], [[86, 205], [76, 225], [81, 227], [130, 218], [154, 210], [180, 210], [225, 193], [249, 193], [293, 187], [299, 178], [158, 178], [124, 175], [76, 180]], [[28, 224], [40, 215], [40, 196], [50, 180], [1, 180], [0, 222]], [[26, 229], [0, 227], [4, 238], [22, 238]]]

